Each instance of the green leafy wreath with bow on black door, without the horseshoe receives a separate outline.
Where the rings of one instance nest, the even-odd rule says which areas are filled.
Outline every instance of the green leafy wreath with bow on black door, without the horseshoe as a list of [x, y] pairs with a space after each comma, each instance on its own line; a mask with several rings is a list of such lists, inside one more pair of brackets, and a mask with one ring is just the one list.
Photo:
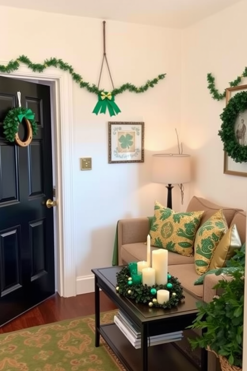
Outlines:
[[10, 109], [5, 119], [3, 120], [3, 134], [9, 142], [14, 142], [19, 125], [23, 118], [30, 121], [33, 135], [37, 134], [37, 123], [34, 120], [34, 113], [30, 108], [16, 107]]

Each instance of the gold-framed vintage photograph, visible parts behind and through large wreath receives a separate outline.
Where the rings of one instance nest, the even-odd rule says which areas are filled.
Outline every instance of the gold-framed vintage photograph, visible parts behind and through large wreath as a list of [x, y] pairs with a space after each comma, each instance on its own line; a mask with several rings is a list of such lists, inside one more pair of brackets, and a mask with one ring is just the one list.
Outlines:
[[[247, 85], [234, 86], [226, 89], [226, 105], [231, 97], [241, 91], [247, 91]], [[247, 145], [247, 110], [241, 112], [235, 122], [235, 133], [238, 143]], [[238, 175], [240, 177], [247, 177], [247, 162], [235, 162], [224, 151], [224, 174]]]

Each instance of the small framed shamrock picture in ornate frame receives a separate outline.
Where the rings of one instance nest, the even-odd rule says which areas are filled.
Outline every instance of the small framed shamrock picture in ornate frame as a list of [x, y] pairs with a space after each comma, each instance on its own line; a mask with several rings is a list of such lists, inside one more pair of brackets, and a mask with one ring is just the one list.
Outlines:
[[144, 162], [144, 122], [108, 122], [108, 163]]

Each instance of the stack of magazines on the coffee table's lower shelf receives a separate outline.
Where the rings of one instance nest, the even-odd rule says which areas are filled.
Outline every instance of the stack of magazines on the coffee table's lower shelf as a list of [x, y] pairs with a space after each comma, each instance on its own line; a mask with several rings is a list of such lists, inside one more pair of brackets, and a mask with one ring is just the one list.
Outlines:
[[[136, 349], [141, 348], [141, 333], [137, 326], [130, 322], [130, 320], [124, 315], [123, 312], [119, 311], [114, 316], [114, 323], [120, 329], [121, 332], [126, 336], [128, 341]], [[183, 331], [170, 332], [169, 334], [155, 335], [148, 338], [148, 346], [169, 343], [172, 341], [179, 341], [183, 338]]]

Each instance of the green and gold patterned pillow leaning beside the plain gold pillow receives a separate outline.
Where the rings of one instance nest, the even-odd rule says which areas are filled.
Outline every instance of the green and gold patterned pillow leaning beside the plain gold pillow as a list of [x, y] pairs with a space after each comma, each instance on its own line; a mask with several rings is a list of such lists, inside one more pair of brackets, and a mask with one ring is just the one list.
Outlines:
[[227, 229], [222, 209], [213, 214], [198, 229], [195, 239], [195, 267], [198, 275], [203, 275], [209, 269], [214, 250]]

